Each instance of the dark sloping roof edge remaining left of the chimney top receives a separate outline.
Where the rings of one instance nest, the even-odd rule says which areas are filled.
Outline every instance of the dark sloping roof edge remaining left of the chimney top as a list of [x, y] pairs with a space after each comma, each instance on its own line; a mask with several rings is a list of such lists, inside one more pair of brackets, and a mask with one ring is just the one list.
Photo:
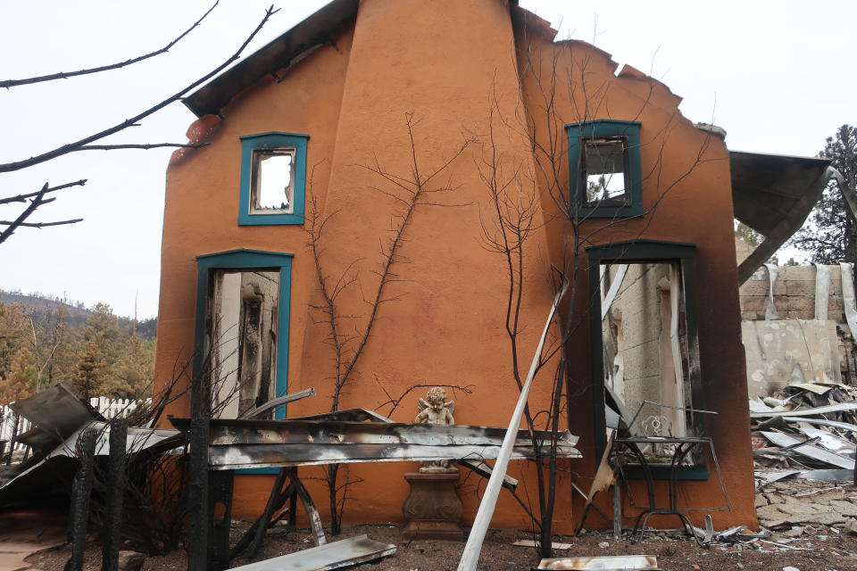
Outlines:
[[245, 87], [292, 65], [300, 54], [333, 43], [337, 31], [354, 21], [359, 0], [334, 0], [306, 20], [248, 55], [182, 100], [197, 117], [216, 115]]

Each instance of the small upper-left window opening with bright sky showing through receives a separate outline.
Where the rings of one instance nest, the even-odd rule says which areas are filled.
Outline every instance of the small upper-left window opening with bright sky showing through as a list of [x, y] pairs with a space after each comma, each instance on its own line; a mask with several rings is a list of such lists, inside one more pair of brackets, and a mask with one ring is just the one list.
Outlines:
[[253, 170], [250, 214], [294, 211], [295, 149], [254, 150]]

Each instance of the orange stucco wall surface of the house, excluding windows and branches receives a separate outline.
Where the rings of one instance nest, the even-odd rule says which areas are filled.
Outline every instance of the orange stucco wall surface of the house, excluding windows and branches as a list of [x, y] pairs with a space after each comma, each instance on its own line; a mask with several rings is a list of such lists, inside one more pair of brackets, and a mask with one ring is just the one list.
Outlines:
[[[465, 140], [477, 137], [429, 183], [432, 189], [453, 187], [447, 193], [431, 194], [427, 201], [444, 205], [422, 203], [413, 212], [404, 233], [402, 263], [395, 266], [397, 280], [385, 292], [395, 301], [381, 304], [340, 408], [374, 409], [387, 401], [387, 393], [397, 396], [416, 384], [467, 385], [472, 393], [455, 395], [456, 421], [505, 426], [518, 393], [510, 373], [512, 358], [504, 328], [508, 278], [503, 258], [487, 252], [480, 238], [480, 217], [485, 219], [490, 203], [478, 163], [486, 149], [494, 98], [498, 150], [509, 164], [535, 171], [528, 143], [521, 135], [526, 129], [514, 128], [508, 121], [525, 116], [521, 113], [524, 104], [537, 103], [520, 48], [532, 43], [547, 59], [556, 52], [558, 61], [570, 69], [574, 58], [591, 54], [587, 82], [609, 84], [595, 116], [642, 121], [643, 139], [653, 141], [653, 151], [663, 150], [663, 181], [687, 170], [695, 150], [706, 140], [703, 132], [678, 114], [678, 99], [665, 87], [645, 78], [616, 78], [612, 62], [604, 54], [591, 52], [585, 45], [553, 44], [544, 27], [526, 24], [517, 8], [512, 13], [514, 18], [500, 0], [363, 0], [354, 27], [336, 38], [336, 46], [321, 47], [279, 82], [263, 79], [221, 111], [222, 121], [208, 138], [211, 145], [173, 161], [167, 173], [156, 362], [161, 377], [174, 376], [177, 365], [191, 356], [196, 255], [235, 248], [291, 252], [289, 391], [312, 386], [318, 395], [289, 405], [289, 416], [330, 407], [330, 378], [335, 368], [331, 348], [324, 343], [329, 331], [312, 309], [322, 299], [307, 248], [308, 236], [300, 226], [237, 226], [238, 137], [266, 131], [310, 135], [307, 167], [312, 171], [312, 185], [307, 185], [307, 211], [312, 197], [320, 215], [330, 217], [321, 242], [322, 268], [333, 279], [354, 278], [337, 303], [354, 316], [345, 327], [355, 331], [367, 319], [368, 306], [363, 300], [374, 295], [378, 285], [374, 270], [384, 261], [379, 248], [389, 240], [402, 210], [401, 203], [385, 194], [395, 192], [395, 186], [366, 167], [377, 164], [408, 178], [415, 156], [417, 168], [425, 176], [440, 168]], [[566, 77], [564, 72], [561, 77]], [[562, 102], [559, 112], [565, 122], [576, 120], [569, 101]], [[410, 113], [413, 155], [406, 123]], [[530, 126], [538, 127], [537, 121], [530, 120]], [[659, 153], [653, 151], [646, 148], [643, 152], [644, 171], [658, 162]], [[709, 429], [718, 443], [721, 467], [736, 504], [736, 510], [719, 515], [717, 522], [753, 523], [749, 444], [743, 434], [736, 436], [729, 430], [735, 426], [743, 429], [748, 419], [728, 156], [722, 142], [714, 139], [705, 157], [707, 161], [692, 176], [670, 188], [656, 212], [603, 232], [597, 240], [644, 236], [698, 244], [705, 406], [722, 413]], [[521, 322], [526, 327], [519, 340], [525, 371], [550, 307], [549, 264], [559, 260], [567, 244], [567, 228], [553, 216], [544, 179], [541, 183], [537, 192], [546, 215], [537, 211], [539, 229], [528, 240], [525, 258]], [[657, 188], [647, 184], [644, 193], [649, 205]], [[583, 274], [579, 285], [585, 291]], [[585, 297], [578, 296], [578, 300]], [[575, 334], [571, 347], [578, 355], [575, 383], [581, 391], [575, 396], [579, 401], [573, 403], [570, 428], [580, 436], [584, 458], [572, 460], [564, 468], [586, 490], [596, 463], [589, 418], [591, 395], [587, 392], [591, 379], [587, 377], [586, 324]], [[537, 377], [530, 400], [534, 410], [545, 408], [549, 401], [552, 370], [546, 367]], [[392, 418], [411, 421], [417, 412], [417, 396], [406, 397]], [[382, 407], [379, 412], [388, 410]], [[187, 399], [176, 402], [168, 412], [187, 415]], [[349, 491], [352, 500], [345, 509], [345, 522], [401, 521], [407, 495], [403, 475], [414, 468], [403, 463], [351, 465], [350, 477], [362, 478], [362, 483]], [[305, 469], [304, 473], [312, 476], [318, 471]], [[524, 482], [521, 490], [525, 486], [536, 489], [535, 475], [525, 462], [513, 462], [511, 474]], [[579, 512], [572, 506], [567, 481], [572, 476], [566, 474], [563, 472], [557, 494], [556, 531], [560, 532], [573, 528]], [[471, 477], [469, 484], [474, 482]], [[327, 494], [320, 485], [310, 483], [313, 497], [325, 513]], [[716, 482], [683, 484], [680, 495], [692, 501], [697, 494], [709, 494], [713, 485]], [[269, 476], [237, 477], [234, 513], [251, 517], [261, 511], [268, 486]], [[472, 488], [462, 498], [465, 523], [478, 505]], [[528, 527], [515, 501], [505, 493], [501, 498], [493, 525]], [[535, 496], [530, 501], [537, 505]]]

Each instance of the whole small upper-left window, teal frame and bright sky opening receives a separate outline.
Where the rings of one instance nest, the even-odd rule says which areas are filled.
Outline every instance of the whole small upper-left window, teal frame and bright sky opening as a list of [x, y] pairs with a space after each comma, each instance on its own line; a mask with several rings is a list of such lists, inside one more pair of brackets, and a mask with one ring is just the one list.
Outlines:
[[241, 137], [238, 224], [303, 224], [308, 135]]

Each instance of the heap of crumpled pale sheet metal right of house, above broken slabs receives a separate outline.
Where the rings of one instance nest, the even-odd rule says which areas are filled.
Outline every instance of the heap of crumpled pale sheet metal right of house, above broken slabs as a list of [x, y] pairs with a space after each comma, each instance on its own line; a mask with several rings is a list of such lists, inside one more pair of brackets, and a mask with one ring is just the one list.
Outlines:
[[[857, 388], [841, 384], [786, 385], [750, 401], [757, 479], [852, 480], [857, 452]], [[759, 485], [757, 484], [757, 488]]]

